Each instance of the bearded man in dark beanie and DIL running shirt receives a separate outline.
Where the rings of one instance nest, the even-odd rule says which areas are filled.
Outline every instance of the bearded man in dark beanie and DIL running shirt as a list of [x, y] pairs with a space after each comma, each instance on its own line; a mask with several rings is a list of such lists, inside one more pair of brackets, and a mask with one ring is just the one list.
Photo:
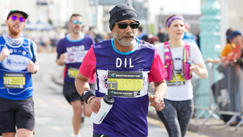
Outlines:
[[[93, 137], [147, 137], [149, 103], [156, 110], [164, 108], [166, 71], [153, 46], [136, 39], [139, 21], [133, 8], [117, 5], [111, 9], [109, 27], [113, 39], [88, 51], [75, 80], [76, 88], [94, 113], [99, 111], [102, 97], [112, 91], [113, 107], [101, 124], [93, 125]], [[95, 72], [96, 96], [88, 84]], [[155, 83], [150, 96], [149, 81]]]

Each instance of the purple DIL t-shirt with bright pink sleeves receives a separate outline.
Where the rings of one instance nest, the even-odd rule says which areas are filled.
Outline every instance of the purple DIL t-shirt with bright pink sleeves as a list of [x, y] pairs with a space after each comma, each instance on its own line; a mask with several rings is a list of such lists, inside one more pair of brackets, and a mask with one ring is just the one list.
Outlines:
[[148, 136], [148, 83], [161, 82], [166, 77], [163, 62], [152, 45], [138, 40], [132, 51], [124, 53], [115, 48], [113, 40], [97, 43], [85, 55], [80, 73], [88, 78], [96, 73], [97, 97], [110, 90], [115, 98], [104, 121], [94, 124], [94, 133], [109, 137]]

